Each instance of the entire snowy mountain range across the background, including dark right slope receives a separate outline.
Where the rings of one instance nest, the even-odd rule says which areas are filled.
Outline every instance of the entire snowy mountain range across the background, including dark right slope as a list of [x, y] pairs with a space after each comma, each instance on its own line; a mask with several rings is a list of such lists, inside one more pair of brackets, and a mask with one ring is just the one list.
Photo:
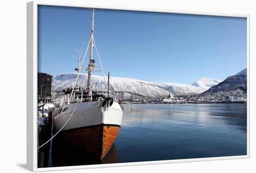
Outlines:
[[[214, 93], [218, 91], [229, 91], [241, 87], [246, 87], [246, 69], [234, 76], [228, 77], [223, 82], [211, 78], [201, 78], [192, 85], [184, 85], [168, 82], [148, 82], [131, 78], [111, 77], [110, 85], [112, 91], [128, 91], [139, 93], [149, 97], [166, 97], [171, 95], [194, 95], [198, 93]], [[74, 85], [76, 73], [62, 73], [54, 75], [54, 85], [56, 91], [67, 89]], [[83, 85], [87, 86], [88, 74], [80, 76]], [[106, 78], [107, 79], [107, 78]], [[107, 86], [103, 76], [92, 75], [92, 88], [95, 90], [106, 90]]]

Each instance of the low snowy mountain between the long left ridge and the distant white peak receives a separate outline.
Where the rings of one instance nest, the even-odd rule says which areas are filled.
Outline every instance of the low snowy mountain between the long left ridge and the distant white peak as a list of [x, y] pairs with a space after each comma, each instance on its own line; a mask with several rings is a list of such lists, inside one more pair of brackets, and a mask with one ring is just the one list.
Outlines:
[[207, 89], [195, 87], [185, 84], [169, 83], [169, 82], [155, 82], [155, 84], [164, 87], [171, 93], [174, 93], [176, 96], [180, 95], [194, 95], [198, 93], [203, 93]]

